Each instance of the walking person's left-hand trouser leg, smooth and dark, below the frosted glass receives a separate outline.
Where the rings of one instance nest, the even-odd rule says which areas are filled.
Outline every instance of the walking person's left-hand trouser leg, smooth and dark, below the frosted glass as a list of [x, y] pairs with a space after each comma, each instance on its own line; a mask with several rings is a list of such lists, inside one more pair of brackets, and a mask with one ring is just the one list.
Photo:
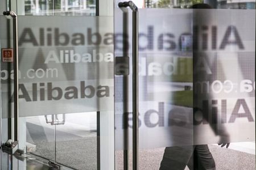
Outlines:
[[193, 146], [166, 147], [159, 170], [184, 170], [193, 152]]

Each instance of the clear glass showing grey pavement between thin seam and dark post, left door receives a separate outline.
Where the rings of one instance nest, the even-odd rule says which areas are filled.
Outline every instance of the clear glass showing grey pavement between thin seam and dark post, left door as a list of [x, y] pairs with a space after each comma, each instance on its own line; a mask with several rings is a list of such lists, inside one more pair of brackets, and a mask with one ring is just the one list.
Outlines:
[[97, 147], [100, 146], [97, 143], [96, 114], [65, 114], [65, 122], [61, 120], [63, 124], [56, 124], [57, 163], [75, 169], [97, 169]]

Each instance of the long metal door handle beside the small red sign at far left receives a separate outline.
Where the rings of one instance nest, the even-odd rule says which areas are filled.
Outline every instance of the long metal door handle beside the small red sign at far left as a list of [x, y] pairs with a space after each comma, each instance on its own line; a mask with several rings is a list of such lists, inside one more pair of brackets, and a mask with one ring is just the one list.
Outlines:
[[[19, 119], [19, 82], [18, 82], [18, 22], [17, 22], [17, 15], [13, 11], [5, 11], [3, 15], [10, 15], [13, 18], [13, 48], [14, 48], [14, 141], [6, 142], [6, 146], [11, 148], [12, 154], [16, 150], [16, 146], [18, 145], [18, 119]], [[11, 130], [11, 129], [8, 129]], [[15, 148], [15, 150], [14, 150]]]

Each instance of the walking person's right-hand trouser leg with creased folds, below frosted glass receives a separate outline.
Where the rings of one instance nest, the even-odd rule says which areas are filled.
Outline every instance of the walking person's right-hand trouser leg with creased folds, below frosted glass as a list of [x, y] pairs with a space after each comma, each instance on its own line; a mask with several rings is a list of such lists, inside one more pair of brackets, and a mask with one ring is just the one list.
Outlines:
[[[216, 165], [208, 145], [196, 145], [194, 150], [194, 170], [215, 170]], [[196, 156], [196, 158], [195, 158]], [[190, 169], [190, 168], [189, 168]]]

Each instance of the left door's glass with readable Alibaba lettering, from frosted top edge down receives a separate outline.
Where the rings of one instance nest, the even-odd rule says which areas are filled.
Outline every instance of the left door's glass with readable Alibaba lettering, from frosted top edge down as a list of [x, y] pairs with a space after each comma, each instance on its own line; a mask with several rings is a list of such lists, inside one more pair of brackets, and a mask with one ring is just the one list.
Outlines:
[[75, 169], [112, 169], [113, 17], [19, 16], [19, 58], [31, 154]]

